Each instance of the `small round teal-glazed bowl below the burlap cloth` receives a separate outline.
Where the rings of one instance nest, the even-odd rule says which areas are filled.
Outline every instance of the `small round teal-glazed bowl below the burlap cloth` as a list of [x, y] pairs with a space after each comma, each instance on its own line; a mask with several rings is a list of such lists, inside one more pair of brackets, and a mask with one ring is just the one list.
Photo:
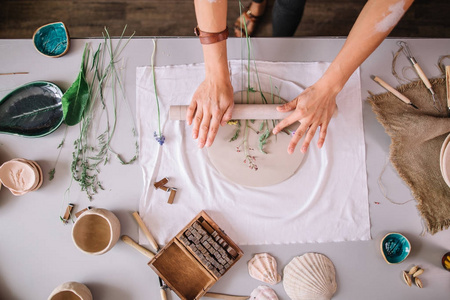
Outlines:
[[398, 264], [404, 261], [411, 252], [411, 243], [397, 232], [386, 234], [381, 240], [381, 254], [388, 264]]

